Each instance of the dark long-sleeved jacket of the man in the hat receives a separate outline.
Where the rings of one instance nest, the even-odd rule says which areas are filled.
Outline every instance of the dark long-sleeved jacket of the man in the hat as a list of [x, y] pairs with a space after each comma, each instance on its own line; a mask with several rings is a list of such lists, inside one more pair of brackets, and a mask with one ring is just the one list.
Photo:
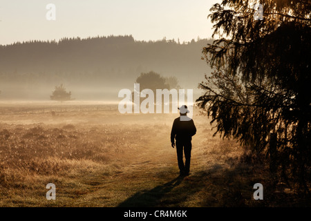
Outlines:
[[194, 126], [194, 120], [180, 121], [180, 117], [176, 118], [171, 128], [171, 142], [183, 140], [192, 140], [192, 136], [196, 134], [196, 126]]

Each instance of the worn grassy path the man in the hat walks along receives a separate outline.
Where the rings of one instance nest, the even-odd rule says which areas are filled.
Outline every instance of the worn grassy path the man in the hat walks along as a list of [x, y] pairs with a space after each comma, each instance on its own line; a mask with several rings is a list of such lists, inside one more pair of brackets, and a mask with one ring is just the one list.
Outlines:
[[[198, 135], [193, 139], [191, 173], [180, 179], [176, 148], [171, 148], [170, 127], [150, 137], [142, 144], [112, 164], [117, 172], [104, 177], [93, 191], [75, 202], [77, 206], [185, 206], [191, 194], [202, 189], [202, 184], [189, 193], [185, 188], [200, 181], [202, 171], [213, 168], [214, 162], [204, 155], [204, 128], [198, 126]], [[97, 177], [97, 182], [98, 182]], [[179, 196], [178, 196], [179, 194]], [[173, 196], [176, 195], [176, 196]], [[191, 201], [191, 200], [190, 200]], [[198, 201], [198, 199], [192, 200]], [[191, 202], [188, 202], [191, 204]], [[194, 202], [195, 204], [195, 202]]]

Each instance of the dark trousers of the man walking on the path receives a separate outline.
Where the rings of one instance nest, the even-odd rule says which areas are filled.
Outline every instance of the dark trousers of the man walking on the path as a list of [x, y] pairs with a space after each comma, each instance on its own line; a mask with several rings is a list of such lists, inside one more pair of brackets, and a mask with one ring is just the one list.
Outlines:
[[[177, 160], [180, 173], [189, 173], [191, 159], [191, 140], [176, 140]], [[185, 164], [183, 161], [183, 152], [185, 152]]]

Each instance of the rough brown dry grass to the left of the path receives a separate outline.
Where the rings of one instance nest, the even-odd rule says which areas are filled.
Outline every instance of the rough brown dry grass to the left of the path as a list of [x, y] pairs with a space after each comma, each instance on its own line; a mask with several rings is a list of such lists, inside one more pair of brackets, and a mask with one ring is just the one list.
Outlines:
[[[44, 124], [6, 124], [1, 125], [1, 128], [2, 206], [19, 205], [12, 199], [11, 193], [15, 191], [18, 193], [23, 190], [25, 198], [33, 198], [31, 192], [37, 188], [44, 193], [46, 190], [42, 186], [48, 182], [56, 182], [57, 187], [72, 183], [73, 192], [77, 191], [77, 195], [81, 195], [85, 191], [81, 192], [79, 188], [75, 190], [76, 183], [81, 180], [88, 182], [84, 179], [92, 173], [100, 173], [102, 178], [115, 173], [118, 171], [115, 164], [117, 158], [124, 155], [124, 152], [131, 153], [143, 142], [142, 131], [135, 128], [129, 130], [127, 126], [66, 124], [55, 127]], [[58, 183], [59, 179], [64, 182]], [[33, 189], [34, 186], [37, 187]], [[86, 186], [82, 185], [83, 188]], [[44, 202], [42, 199], [41, 201]], [[21, 206], [28, 206], [23, 200], [19, 202]]]

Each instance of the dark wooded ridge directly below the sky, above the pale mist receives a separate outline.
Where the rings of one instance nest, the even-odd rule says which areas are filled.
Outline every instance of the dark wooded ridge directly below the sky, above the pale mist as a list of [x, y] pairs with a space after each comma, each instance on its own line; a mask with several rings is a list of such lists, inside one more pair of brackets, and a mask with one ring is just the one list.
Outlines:
[[[1, 73], [83, 73], [132, 66], [198, 63], [207, 39], [180, 44], [175, 40], [135, 41], [132, 36], [63, 38], [59, 41], [26, 41], [0, 46]], [[29, 56], [31, 55], [31, 56]], [[199, 61], [200, 62], [200, 61]], [[117, 70], [115, 70], [117, 71]]]

